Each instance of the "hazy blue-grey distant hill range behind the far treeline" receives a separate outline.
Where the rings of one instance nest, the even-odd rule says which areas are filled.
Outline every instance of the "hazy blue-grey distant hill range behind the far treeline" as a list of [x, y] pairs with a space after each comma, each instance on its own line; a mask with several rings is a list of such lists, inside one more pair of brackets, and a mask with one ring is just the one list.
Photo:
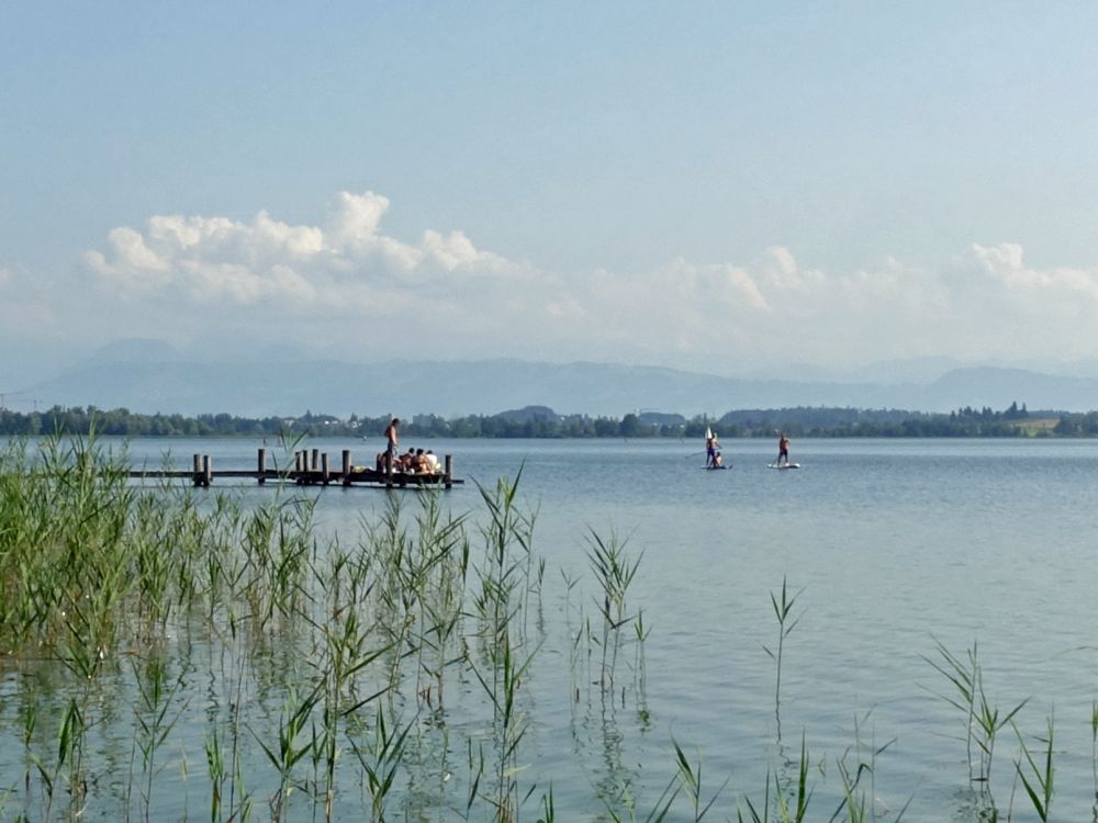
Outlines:
[[[167, 352], [161, 352], [167, 353]], [[1098, 380], [1020, 369], [954, 369], [929, 383], [735, 379], [658, 367], [520, 360], [200, 363], [102, 353], [29, 387], [42, 407], [94, 405], [262, 417], [305, 410], [411, 418], [542, 406], [562, 415], [621, 417], [641, 409], [719, 417], [730, 409], [851, 406], [950, 412], [962, 406], [1098, 409]]]

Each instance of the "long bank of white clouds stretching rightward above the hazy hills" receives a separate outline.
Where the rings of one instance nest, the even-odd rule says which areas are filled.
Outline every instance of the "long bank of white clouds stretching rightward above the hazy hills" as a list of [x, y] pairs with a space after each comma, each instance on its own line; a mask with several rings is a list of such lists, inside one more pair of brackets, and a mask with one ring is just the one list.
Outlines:
[[[680, 258], [640, 272], [549, 272], [478, 247], [459, 228], [428, 228], [416, 241], [386, 235], [389, 207], [380, 194], [343, 192], [316, 226], [267, 212], [246, 223], [155, 216], [141, 232], [111, 230], [105, 249], [86, 260], [115, 313], [119, 296], [130, 301], [131, 334], [220, 328], [247, 339], [287, 327], [307, 329], [295, 341], [346, 340], [363, 356], [736, 372], [781, 362], [1096, 353], [1098, 268], [1034, 269], [1017, 244], [974, 244], [940, 268], [886, 258], [834, 272], [771, 247], [747, 262]], [[0, 272], [0, 286], [11, 279]]]

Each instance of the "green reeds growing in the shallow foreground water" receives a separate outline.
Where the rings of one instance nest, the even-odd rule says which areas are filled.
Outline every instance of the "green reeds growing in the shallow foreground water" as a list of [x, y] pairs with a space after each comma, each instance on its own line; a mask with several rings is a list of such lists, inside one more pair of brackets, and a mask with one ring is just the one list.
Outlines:
[[[468, 515], [433, 494], [414, 506], [393, 494], [358, 533], [326, 537], [313, 503], [290, 489], [245, 506], [130, 485], [94, 440], [9, 444], [0, 819], [904, 816], [903, 799], [886, 811], [874, 789], [888, 744], [855, 734], [821, 757], [802, 732], [798, 752], [782, 754], [783, 667], [804, 617], [785, 580], [771, 595], [777, 754], [765, 780], [704, 782], [701, 756], [672, 740], [654, 786], [615, 779], [612, 763], [587, 802], [572, 787], [558, 811], [561, 787], [529, 768], [547, 564], [516, 491], [482, 488]], [[643, 723], [652, 629], [630, 594], [640, 559], [613, 532], [592, 532], [586, 556], [582, 580], [565, 575], [565, 699], [593, 707], [595, 724], [615, 706]], [[1019, 813], [1049, 820], [1052, 719], [1038, 739], [1018, 731], [1021, 706], [1000, 710], [985, 692], [975, 646], [938, 646], [928, 663], [964, 729], [971, 774], [959, 785], [973, 787], [973, 820], [1010, 819], [1016, 796]], [[1098, 710], [1093, 730], [1098, 743]], [[993, 779], [1002, 733], [1018, 754]]]

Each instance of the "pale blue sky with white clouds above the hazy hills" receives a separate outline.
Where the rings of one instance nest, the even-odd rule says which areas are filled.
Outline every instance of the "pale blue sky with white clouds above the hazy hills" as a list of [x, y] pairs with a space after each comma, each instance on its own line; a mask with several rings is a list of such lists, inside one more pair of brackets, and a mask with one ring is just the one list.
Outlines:
[[0, 392], [193, 357], [1098, 374], [1098, 4], [0, 4]]

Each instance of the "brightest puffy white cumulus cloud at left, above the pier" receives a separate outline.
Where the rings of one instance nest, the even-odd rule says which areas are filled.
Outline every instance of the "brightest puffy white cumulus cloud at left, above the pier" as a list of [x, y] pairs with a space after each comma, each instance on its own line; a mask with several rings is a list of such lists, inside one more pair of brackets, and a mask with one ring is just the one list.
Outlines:
[[[287, 312], [349, 303], [363, 312], [379, 298], [405, 303], [393, 289], [415, 288], [429, 302], [448, 275], [514, 274], [518, 267], [475, 248], [460, 230], [426, 230], [418, 244], [381, 233], [388, 199], [343, 192], [323, 228], [290, 225], [259, 212], [250, 223], [225, 217], [157, 215], [145, 232], [120, 227], [109, 249], [86, 261], [123, 296], [169, 293], [197, 303], [281, 305]], [[367, 288], [368, 286], [368, 288]]]

